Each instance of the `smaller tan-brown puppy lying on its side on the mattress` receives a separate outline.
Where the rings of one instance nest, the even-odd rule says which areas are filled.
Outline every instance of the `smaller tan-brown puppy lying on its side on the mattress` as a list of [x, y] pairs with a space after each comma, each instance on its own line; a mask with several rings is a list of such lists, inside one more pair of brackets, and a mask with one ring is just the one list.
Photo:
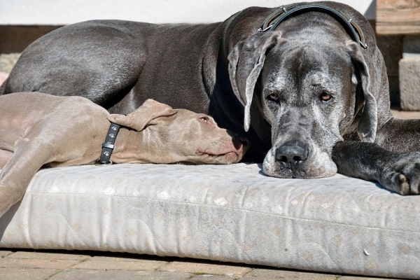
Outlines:
[[127, 116], [84, 97], [38, 92], [0, 97], [0, 216], [25, 194], [41, 167], [92, 165], [111, 123], [121, 125], [111, 161], [116, 163], [239, 162], [248, 148], [204, 114], [148, 99]]

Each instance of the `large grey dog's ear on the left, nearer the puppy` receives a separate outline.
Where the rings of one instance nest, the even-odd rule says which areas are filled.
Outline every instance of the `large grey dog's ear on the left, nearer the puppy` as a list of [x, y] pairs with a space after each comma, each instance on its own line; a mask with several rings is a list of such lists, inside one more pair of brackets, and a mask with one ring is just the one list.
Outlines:
[[253, 91], [264, 66], [265, 54], [276, 45], [280, 37], [279, 31], [253, 34], [237, 43], [228, 55], [230, 83], [237, 99], [245, 106], [245, 131], [249, 130]]

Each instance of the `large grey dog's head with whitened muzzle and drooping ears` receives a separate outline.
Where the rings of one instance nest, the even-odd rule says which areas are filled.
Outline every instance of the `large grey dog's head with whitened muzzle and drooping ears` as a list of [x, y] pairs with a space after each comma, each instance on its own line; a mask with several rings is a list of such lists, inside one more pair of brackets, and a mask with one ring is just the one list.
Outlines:
[[353, 41], [314, 43], [269, 31], [240, 41], [228, 58], [232, 88], [244, 105], [244, 130], [252, 126], [266, 133], [253, 125], [261, 118], [271, 127], [265, 174], [332, 176], [337, 172], [332, 147], [352, 126], [362, 141], [374, 140], [376, 100], [367, 64]]

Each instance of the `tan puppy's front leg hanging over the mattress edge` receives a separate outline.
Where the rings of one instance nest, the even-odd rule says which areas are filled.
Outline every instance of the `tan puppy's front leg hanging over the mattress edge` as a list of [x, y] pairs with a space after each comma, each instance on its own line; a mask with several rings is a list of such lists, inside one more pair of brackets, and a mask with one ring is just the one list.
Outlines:
[[32, 177], [50, 162], [52, 147], [40, 139], [20, 139], [0, 174], [0, 217], [22, 199]]

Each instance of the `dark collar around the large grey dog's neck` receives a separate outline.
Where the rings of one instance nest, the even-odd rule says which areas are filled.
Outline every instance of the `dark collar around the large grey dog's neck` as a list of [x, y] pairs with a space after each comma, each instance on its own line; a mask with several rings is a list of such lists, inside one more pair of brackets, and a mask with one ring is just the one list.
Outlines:
[[356, 22], [353, 22], [353, 20], [342, 11], [334, 10], [333, 8], [317, 4], [290, 4], [281, 6], [278, 10], [275, 10], [271, 15], [269, 15], [264, 20], [264, 22], [262, 22], [258, 32], [273, 31], [280, 25], [281, 22], [287, 18], [290, 18], [292, 15], [300, 15], [301, 13], [307, 13], [311, 11], [317, 11], [331, 15], [332, 18], [335, 18], [335, 20], [341, 23], [353, 41], [359, 43], [362, 48], [367, 48], [363, 31], [360, 29]]

